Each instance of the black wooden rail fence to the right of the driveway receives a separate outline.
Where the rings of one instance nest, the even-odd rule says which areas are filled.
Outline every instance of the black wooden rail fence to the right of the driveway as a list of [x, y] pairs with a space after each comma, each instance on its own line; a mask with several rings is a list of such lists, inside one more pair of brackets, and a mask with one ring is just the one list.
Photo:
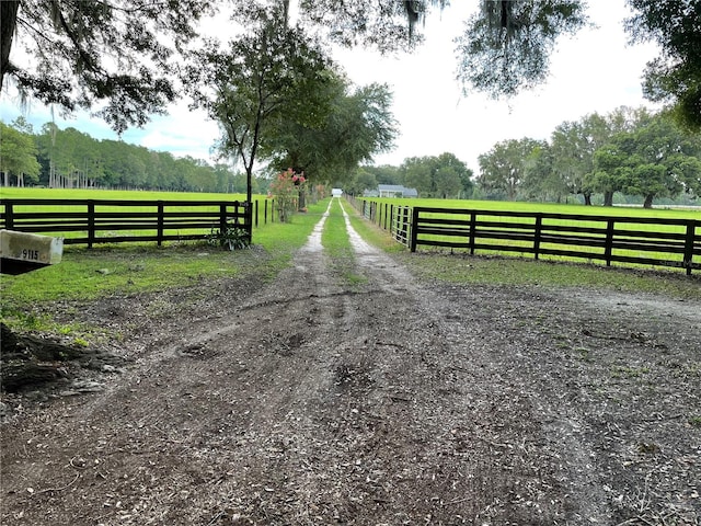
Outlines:
[[393, 206], [365, 199], [354, 206], [415, 252], [445, 247], [474, 254], [528, 253], [701, 270], [701, 218], [665, 219], [624, 216], [495, 211]]

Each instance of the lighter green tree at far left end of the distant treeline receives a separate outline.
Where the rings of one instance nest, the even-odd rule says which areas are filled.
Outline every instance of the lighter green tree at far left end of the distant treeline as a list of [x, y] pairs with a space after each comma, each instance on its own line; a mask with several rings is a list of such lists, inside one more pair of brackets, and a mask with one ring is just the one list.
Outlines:
[[[24, 119], [15, 121], [15, 127], [26, 128]], [[39, 163], [36, 160], [36, 142], [31, 134], [0, 122], [0, 172], [4, 173], [4, 185], [10, 186], [10, 175], [16, 178], [18, 186], [24, 186], [24, 178], [37, 181]], [[31, 129], [31, 128], [30, 128]]]

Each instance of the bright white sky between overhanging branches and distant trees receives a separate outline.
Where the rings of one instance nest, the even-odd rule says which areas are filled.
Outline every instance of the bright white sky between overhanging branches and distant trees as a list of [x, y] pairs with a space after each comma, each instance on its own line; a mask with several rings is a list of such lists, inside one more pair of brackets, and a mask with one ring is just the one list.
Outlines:
[[[653, 44], [629, 46], [622, 21], [630, 13], [624, 0], [589, 0], [587, 13], [596, 25], [558, 41], [551, 56], [547, 83], [509, 100], [494, 101], [485, 94], [462, 94], [455, 79], [457, 59], [453, 38], [476, 8], [474, 0], [453, 0], [443, 13], [426, 20], [426, 42], [412, 55], [380, 57], [361, 49], [334, 49], [335, 60], [357, 85], [388, 84], [393, 93], [392, 112], [400, 136], [391, 152], [375, 157], [376, 164], [399, 165], [410, 157], [453, 153], [479, 171], [478, 159], [495, 144], [507, 139], [548, 139], [565, 121], [587, 114], [606, 114], [627, 105], [647, 105], [641, 78], [645, 64], [658, 55]], [[16, 99], [2, 94], [0, 119], [10, 123], [24, 115], [38, 129], [51, 121], [51, 111], [38, 103], [21, 110]], [[79, 113], [54, 118], [60, 128], [72, 126], [96, 139], [117, 139], [97, 118]], [[126, 142], [212, 160], [217, 125], [202, 112], [181, 101], [169, 115], [152, 117], [142, 129], [123, 134]]]

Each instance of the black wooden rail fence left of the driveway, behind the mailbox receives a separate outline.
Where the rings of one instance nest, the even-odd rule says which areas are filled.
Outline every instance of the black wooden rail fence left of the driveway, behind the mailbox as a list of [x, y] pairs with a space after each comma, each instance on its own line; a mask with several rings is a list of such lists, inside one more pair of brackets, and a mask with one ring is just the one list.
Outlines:
[[[257, 224], [257, 203], [255, 204]], [[43, 207], [36, 211], [36, 207]], [[0, 199], [0, 228], [50, 236], [65, 244], [204, 239], [238, 226], [249, 238], [248, 203], [226, 201]], [[265, 207], [267, 216], [267, 206]]]

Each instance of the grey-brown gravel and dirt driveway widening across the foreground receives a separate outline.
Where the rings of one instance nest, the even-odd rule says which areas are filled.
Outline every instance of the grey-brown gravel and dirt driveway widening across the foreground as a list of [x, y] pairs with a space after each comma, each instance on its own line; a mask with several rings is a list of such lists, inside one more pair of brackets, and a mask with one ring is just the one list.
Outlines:
[[2, 523], [699, 524], [700, 302], [421, 283], [356, 235], [348, 284], [317, 236], [73, 309], [131, 363], [7, 402]]

